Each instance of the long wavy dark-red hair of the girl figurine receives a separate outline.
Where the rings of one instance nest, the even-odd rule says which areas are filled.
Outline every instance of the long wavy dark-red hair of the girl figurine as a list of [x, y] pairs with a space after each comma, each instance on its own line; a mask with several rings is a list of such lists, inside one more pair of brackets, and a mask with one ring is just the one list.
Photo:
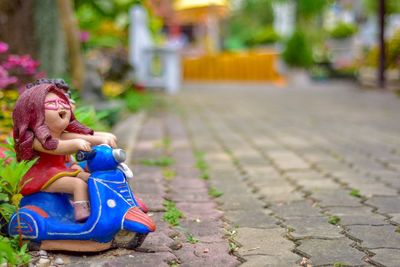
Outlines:
[[[17, 160], [30, 160], [36, 156], [33, 140], [36, 138], [47, 150], [54, 150], [58, 140], [54, 139], [45, 124], [44, 100], [54, 93], [68, 102], [68, 98], [54, 84], [39, 84], [25, 90], [17, 100], [13, 111], [13, 135]], [[93, 134], [93, 130], [79, 123], [71, 112], [70, 123], [65, 129], [79, 134]]]

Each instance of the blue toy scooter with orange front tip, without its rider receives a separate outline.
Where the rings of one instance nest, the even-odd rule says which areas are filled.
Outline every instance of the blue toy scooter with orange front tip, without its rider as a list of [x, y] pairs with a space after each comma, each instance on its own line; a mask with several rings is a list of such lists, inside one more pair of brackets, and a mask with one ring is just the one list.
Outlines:
[[38, 249], [101, 251], [111, 247], [120, 230], [126, 230], [136, 235], [125, 247], [139, 247], [156, 225], [140, 209], [128, 185], [131, 173], [122, 163], [125, 153], [100, 145], [91, 152], [78, 152], [77, 160], [86, 160], [91, 172], [87, 221], [75, 222], [70, 195], [39, 192], [21, 200], [18, 214], [10, 219], [9, 234], [21, 234]]

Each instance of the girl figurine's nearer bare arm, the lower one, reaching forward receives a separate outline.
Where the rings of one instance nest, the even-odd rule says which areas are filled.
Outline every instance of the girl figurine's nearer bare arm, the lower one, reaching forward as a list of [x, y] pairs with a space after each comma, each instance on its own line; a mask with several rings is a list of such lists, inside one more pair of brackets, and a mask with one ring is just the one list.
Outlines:
[[53, 155], [67, 155], [76, 153], [78, 150], [90, 151], [90, 143], [83, 139], [70, 139], [70, 140], [58, 140], [57, 148], [54, 150], [45, 149], [42, 144], [35, 138], [33, 140], [33, 149], [36, 151], [44, 152]]

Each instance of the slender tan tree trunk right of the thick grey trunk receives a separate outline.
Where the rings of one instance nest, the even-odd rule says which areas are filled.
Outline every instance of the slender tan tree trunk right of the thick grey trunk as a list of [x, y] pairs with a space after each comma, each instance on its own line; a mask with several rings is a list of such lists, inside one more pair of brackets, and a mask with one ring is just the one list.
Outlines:
[[70, 0], [57, 0], [57, 6], [65, 40], [67, 41], [72, 85], [80, 90], [83, 86], [85, 66], [80, 48], [78, 23], [73, 11], [73, 2]]

